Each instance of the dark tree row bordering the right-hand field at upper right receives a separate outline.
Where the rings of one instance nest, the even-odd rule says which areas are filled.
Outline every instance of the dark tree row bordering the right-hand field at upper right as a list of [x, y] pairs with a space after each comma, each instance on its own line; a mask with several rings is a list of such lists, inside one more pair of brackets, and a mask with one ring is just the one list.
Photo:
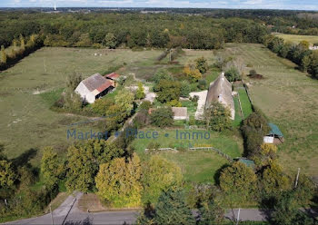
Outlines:
[[264, 39], [264, 44], [283, 58], [298, 64], [303, 72], [308, 72], [318, 78], [318, 52], [309, 50], [309, 43], [302, 41], [300, 44], [284, 42], [283, 38], [269, 35]]

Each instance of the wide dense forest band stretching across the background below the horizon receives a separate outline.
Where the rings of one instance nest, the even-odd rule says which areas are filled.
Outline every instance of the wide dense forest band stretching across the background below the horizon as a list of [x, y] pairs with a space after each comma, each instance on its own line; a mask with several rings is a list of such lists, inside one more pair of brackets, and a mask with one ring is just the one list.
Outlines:
[[252, 20], [190, 15], [3, 13], [0, 44], [43, 34], [49, 46], [218, 49], [224, 42], [260, 43], [266, 28]]

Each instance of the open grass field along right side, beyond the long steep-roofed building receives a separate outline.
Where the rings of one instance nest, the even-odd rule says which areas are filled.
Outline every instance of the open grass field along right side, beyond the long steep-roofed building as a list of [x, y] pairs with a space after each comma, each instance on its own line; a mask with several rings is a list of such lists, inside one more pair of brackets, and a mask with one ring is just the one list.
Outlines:
[[[262, 44], [226, 44], [223, 54], [237, 55], [264, 76], [243, 77], [249, 83], [253, 104], [259, 107], [284, 134], [279, 145], [284, 168], [318, 175], [318, 81], [295, 70], [292, 62], [270, 52]], [[251, 68], [246, 70], [246, 73]]]

